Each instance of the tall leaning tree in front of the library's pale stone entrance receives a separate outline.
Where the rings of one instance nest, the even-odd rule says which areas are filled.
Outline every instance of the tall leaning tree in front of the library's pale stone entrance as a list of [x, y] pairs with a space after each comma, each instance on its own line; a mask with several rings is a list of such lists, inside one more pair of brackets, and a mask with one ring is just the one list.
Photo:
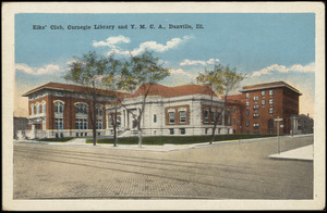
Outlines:
[[[136, 117], [136, 126], [138, 131], [138, 147], [142, 147], [142, 126], [141, 121], [146, 105], [147, 96], [156, 83], [169, 76], [169, 70], [164, 68], [164, 64], [159, 62], [159, 58], [155, 58], [153, 52], [145, 50], [141, 55], [131, 55], [130, 60], [124, 63], [121, 70], [121, 79], [119, 88], [132, 91], [137, 86], [143, 91], [141, 110]], [[123, 105], [124, 106], [124, 105]]]

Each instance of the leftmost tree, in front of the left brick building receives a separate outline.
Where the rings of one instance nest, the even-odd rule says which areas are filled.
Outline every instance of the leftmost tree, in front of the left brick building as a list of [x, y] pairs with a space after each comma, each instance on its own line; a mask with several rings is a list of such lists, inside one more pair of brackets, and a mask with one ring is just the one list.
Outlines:
[[69, 64], [68, 73], [64, 75], [64, 79], [85, 87], [83, 96], [90, 102], [90, 113], [88, 114], [93, 127], [94, 146], [97, 142], [97, 88], [100, 87], [99, 77], [108, 71], [108, 64], [106, 58], [97, 55], [96, 52], [88, 52], [82, 58], [74, 57], [74, 61]]

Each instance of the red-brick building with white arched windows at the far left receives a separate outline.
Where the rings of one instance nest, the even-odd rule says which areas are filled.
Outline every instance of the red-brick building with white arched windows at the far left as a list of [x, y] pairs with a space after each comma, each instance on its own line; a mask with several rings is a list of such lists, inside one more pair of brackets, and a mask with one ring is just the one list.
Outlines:
[[[92, 135], [92, 88], [48, 83], [23, 97], [28, 97], [28, 138], [78, 137]], [[97, 129], [105, 135], [107, 120], [105, 104], [122, 92], [97, 89]]]

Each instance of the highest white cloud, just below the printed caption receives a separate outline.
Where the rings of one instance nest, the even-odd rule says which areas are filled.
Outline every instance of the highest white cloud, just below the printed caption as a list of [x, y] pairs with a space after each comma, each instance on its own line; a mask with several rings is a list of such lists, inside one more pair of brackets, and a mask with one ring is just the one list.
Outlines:
[[184, 36], [182, 38], [172, 38], [171, 40], [167, 41], [166, 43], [158, 43], [157, 41], [145, 41], [138, 46], [138, 48], [135, 48], [134, 50], [122, 50], [117, 45], [121, 42], [129, 43], [131, 42], [131, 39], [129, 37], [124, 36], [118, 36], [118, 37], [109, 37], [106, 41], [94, 41], [94, 47], [100, 47], [100, 46], [108, 46], [111, 48], [111, 50], [108, 52], [108, 54], [111, 54], [112, 52], [117, 54], [132, 54], [137, 55], [141, 52], [143, 52], [145, 49], [153, 50], [156, 52], [166, 52], [170, 49], [177, 48], [179, 45], [191, 39], [192, 36]]

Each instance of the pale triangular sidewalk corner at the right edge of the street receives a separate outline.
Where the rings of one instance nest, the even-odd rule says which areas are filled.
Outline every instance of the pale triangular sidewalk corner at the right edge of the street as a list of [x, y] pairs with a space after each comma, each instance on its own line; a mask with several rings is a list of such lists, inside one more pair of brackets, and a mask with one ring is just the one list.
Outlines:
[[286, 152], [280, 152], [279, 154], [271, 154], [270, 159], [282, 159], [282, 160], [302, 160], [302, 161], [313, 161], [314, 159], [314, 148], [313, 145], [301, 147], [298, 149], [289, 150]]

